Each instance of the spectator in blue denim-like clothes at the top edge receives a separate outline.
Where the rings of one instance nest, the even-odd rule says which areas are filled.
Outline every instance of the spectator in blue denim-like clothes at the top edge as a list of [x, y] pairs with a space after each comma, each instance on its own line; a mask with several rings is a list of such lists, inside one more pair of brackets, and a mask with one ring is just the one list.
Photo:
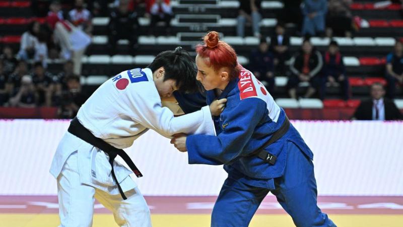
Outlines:
[[323, 35], [326, 12], [326, 0], [304, 0], [302, 7], [302, 15], [304, 16], [302, 35]]

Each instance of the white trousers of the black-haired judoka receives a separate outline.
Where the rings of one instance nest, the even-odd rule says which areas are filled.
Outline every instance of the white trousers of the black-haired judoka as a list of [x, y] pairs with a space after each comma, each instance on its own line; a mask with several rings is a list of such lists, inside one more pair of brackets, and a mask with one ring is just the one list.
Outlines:
[[[66, 152], [62, 149], [66, 143], [72, 147], [78, 145], [77, 150]], [[56, 152], [60, 153], [70, 155], [59, 162], [64, 163], [59, 174], [55, 171], [58, 161], [53, 160], [51, 168], [51, 173], [57, 176], [59, 227], [92, 226], [95, 199], [113, 212], [119, 226], [152, 226], [150, 209], [137, 184], [128, 176], [131, 172], [127, 168], [114, 162], [116, 177], [127, 197], [123, 200], [110, 176], [111, 166], [103, 151], [66, 133]]]

